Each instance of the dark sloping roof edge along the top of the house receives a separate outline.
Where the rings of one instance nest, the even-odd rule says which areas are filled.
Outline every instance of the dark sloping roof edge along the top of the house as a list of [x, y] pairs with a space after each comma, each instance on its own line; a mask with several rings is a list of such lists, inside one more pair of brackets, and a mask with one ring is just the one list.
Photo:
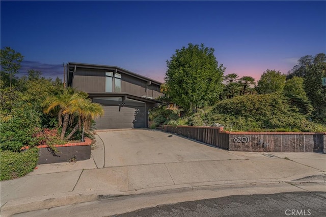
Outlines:
[[137, 77], [143, 80], [146, 80], [146, 82], [152, 82], [156, 85], [161, 85], [163, 84], [162, 82], [158, 82], [157, 80], [153, 80], [149, 77], [145, 77], [143, 75], [131, 72], [129, 70], [120, 68], [118, 66], [107, 66], [107, 65], [97, 65], [97, 64], [88, 64], [88, 63], [74, 63], [74, 62], [68, 62], [68, 65], [75, 65], [76, 67], [80, 67], [80, 68], [92, 68], [92, 69], [117, 69], [118, 71], [121, 71], [125, 74], [131, 75], [133, 77]]

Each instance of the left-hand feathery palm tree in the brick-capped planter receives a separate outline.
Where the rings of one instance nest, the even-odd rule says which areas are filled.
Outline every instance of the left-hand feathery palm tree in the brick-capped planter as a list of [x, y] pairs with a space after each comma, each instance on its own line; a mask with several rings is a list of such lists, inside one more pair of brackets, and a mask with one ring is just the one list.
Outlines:
[[65, 133], [69, 124], [69, 117], [70, 120], [73, 118], [73, 116], [70, 116], [71, 106], [76, 103], [78, 99], [85, 99], [86, 97], [87, 94], [84, 92], [76, 91], [73, 88], [66, 88], [47, 98], [48, 106], [45, 108], [44, 113], [48, 114], [52, 110], [59, 109], [58, 125], [62, 125], [60, 137], [62, 140], [65, 137]]

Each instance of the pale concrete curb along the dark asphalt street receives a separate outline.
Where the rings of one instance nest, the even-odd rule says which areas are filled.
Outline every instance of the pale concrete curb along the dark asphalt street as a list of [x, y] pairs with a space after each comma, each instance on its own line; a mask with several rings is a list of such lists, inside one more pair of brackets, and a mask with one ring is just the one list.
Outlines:
[[[302, 177], [302, 176], [301, 176]], [[307, 177], [307, 176], [305, 176]], [[85, 203], [102, 199], [114, 199], [126, 196], [162, 194], [173, 191], [195, 191], [199, 189], [227, 189], [236, 187], [248, 187], [266, 184], [292, 183], [291, 181], [281, 181], [279, 179], [260, 179], [260, 180], [233, 180], [233, 181], [214, 181], [200, 182], [191, 184], [178, 184], [143, 188], [126, 192], [103, 192], [103, 191], [79, 191], [69, 193], [59, 193], [35, 198], [25, 198], [20, 200], [8, 201], [1, 207], [1, 216], [10, 216], [17, 213], [35, 211], [40, 209], [49, 209], [53, 207], [71, 205], [76, 203]], [[313, 182], [309, 182], [313, 183]], [[325, 191], [324, 188], [322, 188]]]

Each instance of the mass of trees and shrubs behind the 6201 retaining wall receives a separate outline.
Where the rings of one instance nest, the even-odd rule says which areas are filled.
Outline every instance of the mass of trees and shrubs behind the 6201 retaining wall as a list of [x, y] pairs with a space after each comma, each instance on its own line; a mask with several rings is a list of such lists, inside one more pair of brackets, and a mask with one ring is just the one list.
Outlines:
[[[151, 111], [152, 128], [167, 124], [224, 127], [230, 132], [326, 132], [324, 53], [302, 57], [287, 75], [267, 69], [256, 84], [250, 76], [221, 74], [225, 68], [212, 51], [189, 44], [167, 62], [161, 86], [165, 96], [160, 98], [165, 105]], [[202, 70], [205, 64], [207, 70]], [[214, 92], [209, 89], [212, 82], [218, 86]], [[177, 109], [171, 110], [171, 104]]]

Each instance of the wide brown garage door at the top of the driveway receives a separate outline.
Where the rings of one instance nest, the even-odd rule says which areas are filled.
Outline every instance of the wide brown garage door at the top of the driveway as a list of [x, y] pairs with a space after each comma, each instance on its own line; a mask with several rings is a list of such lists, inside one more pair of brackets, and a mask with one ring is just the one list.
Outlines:
[[142, 128], [146, 126], [145, 107], [103, 105], [104, 115], [97, 118], [97, 129]]

